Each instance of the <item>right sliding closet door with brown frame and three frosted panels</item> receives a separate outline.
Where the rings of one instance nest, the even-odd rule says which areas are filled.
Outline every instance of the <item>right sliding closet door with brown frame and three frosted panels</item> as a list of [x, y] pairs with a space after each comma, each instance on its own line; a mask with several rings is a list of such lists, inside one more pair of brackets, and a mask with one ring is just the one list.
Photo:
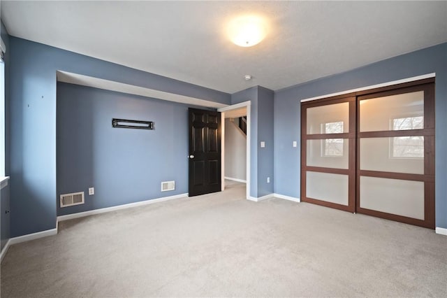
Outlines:
[[358, 97], [357, 212], [434, 228], [434, 84]]

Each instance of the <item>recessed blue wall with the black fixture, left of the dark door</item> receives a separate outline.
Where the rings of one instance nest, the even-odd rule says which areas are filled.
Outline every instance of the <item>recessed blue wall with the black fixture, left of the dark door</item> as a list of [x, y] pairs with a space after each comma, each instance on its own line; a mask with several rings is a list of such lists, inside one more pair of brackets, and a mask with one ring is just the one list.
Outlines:
[[[113, 128], [112, 118], [155, 129]], [[85, 204], [58, 203], [57, 215], [188, 192], [187, 122], [183, 104], [57, 83], [57, 194], [85, 192]], [[161, 192], [167, 180], [175, 191]]]

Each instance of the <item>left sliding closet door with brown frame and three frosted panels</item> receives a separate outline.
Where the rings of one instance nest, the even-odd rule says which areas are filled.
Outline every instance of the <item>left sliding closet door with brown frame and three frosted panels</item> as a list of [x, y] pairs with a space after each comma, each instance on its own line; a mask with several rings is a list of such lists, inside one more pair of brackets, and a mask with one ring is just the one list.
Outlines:
[[356, 98], [301, 106], [301, 199], [355, 211]]

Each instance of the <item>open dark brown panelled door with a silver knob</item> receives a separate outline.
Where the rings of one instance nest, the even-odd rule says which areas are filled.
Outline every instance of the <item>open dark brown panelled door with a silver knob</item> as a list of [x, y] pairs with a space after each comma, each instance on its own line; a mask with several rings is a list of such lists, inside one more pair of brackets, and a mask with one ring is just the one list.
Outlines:
[[221, 191], [221, 113], [189, 108], [189, 197]]

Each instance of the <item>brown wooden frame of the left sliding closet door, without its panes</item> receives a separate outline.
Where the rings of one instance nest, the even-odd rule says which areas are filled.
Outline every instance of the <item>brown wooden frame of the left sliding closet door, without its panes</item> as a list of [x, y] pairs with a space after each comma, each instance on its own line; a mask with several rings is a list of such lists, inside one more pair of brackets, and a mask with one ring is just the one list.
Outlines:
[[[349, 103], [349, 131], [340, 134], [307, 134], [307, 108]], [[348, 169], [307, 166], [307, 140], [348, 139]], [[306, 196], [306, 172], [335, 173], [348, 176], [348, 206]], [[301, 200], [343, 211], [356, 212], [356, 97], [338, 96], [301, 103]]]

